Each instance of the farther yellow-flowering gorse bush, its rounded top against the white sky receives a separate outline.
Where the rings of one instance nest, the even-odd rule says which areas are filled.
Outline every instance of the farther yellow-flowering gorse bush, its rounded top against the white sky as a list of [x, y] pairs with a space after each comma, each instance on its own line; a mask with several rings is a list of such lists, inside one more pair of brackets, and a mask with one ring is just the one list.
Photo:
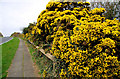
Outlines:
[[[82, 2], [49, 2], [46, 5], [46, 10], [43, 10], [38, 16], [37, 24], [35, 26], [36, 29], [33, 29], [32, 34], [36, 31], [38, 32], [38, 36], [36, 38], [39, 39], [39, 37], [41, 37], [41, 41], [47, 41], [47, 36], [49, 35], [50, 37], [54, 31], [57, 31], [59, 27], [58, 25], [61, 26], [59, 29], [72, 29], [74, 25], [77, 24], [77, 22], [75, 24], [75, 21], [85, 16], [86, 11], [82, 10], [84, 9], [83, 6], [86, 7], [86, 10], [88, 10], [89, 8], [87, 5], [87, 3], [83, 4]], [[73, 6], [74, 8], [70, 6]], [[78, 6], [80, 7], [77, 8]], [[68, 27], [70, 26], [69, 24], [73, 25]]]

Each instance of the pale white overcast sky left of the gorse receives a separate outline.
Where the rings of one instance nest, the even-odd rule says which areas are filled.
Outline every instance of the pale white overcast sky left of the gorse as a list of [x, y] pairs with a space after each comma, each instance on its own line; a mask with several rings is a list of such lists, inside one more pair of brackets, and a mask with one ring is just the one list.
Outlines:
[[0, 31], [4, 36], [20, 32], [29, 23], [37, 21], [38, 15], [48, 2], [49, 0], [1, 0]]

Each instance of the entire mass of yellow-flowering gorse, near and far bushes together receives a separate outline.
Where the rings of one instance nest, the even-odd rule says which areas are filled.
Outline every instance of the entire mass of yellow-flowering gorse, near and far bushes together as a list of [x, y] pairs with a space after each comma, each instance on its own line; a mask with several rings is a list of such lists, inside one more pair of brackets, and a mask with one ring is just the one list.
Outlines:
[[120, 22], [89, 5], [49, 2], [25, 37], [51, 44], [52, 55], [65, 62], [60, 77], [120, 77]]

